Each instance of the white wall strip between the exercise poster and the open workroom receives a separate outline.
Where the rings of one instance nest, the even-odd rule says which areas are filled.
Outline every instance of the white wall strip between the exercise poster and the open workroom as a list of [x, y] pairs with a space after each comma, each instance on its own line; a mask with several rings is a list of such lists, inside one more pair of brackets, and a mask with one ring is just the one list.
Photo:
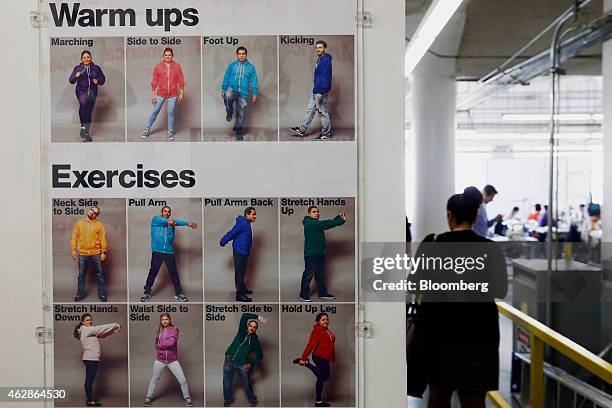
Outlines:
[[[364, 1], [373, 15], [364, 29], [364, 166], [362, 237], [402, 242], [404, 221], [404, 1]], [[370, 303], [365, 319], [365, 405], [406, 405], [405, 305]]]

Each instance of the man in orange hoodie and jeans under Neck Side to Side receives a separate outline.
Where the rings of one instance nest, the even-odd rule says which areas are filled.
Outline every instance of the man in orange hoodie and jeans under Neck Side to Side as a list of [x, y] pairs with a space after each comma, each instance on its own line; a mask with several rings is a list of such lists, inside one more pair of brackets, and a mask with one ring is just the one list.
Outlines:
[[108, 300], [104, 273], [102, 272], [102, 262], [106, 260], [106, 231], [104, 224], [98, 221], [100, 215], [99, 207], [91, 207], [87, 216], [76, 222], [72, 229], [70, 239], [70, 250], [72, 259], [77, 261], [79, 268], [79, 278], [77, 283], [77, 294], [74, 301], [78, 302], [87, 296], [85, 288], [87, 269], [89, 264], [93, 266], [98, 285], [98, 298], [100, 301]]

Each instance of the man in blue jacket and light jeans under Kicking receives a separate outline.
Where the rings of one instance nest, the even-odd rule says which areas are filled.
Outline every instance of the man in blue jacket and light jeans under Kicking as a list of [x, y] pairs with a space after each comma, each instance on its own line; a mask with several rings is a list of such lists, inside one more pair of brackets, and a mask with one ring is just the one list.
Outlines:
[[315, 43], [317, 62], [314, 71], [314, 86], [308, 100], [306, 115], [299, 126], [289, 128], [294, 136], [306, 137], [306, 130], [310, 126], [316, 112], [321, 117], [321, 133], [315, 140], [329, 140], [332, 138], [331, 122], [329, 119], [329, 92], [332, 83], [332, 57], [327, 53], [327, 43], [319, 40]]

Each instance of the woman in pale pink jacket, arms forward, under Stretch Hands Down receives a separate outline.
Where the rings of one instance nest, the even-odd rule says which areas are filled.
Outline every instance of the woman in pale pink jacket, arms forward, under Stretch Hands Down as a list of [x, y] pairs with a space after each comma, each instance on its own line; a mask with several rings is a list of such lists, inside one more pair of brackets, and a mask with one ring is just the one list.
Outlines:
[[93, 397], [93, 382], [98, 373], [100, 365], [100, 341], [104, 337], [108, 337], [121, 330], [119, 323], [103, 324], [101, 326], [93, 325], [93, 317], [89, 313], [81, 316], [80, 323], [74, 328], [73, 336], [81, 341], [83, 348], [83, 364], [85, 365], [85, 396], [87, 401], [85, 405], [88, 407], [101, 407], [100, 401]]

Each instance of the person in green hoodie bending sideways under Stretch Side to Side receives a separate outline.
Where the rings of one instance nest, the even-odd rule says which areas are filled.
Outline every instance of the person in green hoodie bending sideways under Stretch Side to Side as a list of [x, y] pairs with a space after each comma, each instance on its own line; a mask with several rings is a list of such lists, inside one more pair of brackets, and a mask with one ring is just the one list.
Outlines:
[[242, 386], [247, 394], [249, 405], [257, 406], [257, 395], [249, 378], [249, 370], [261, 364], [263, 351], [257, 337], [259, 322], [266, 323], [266, 318], [253, 313], [243, 313], [240, 317], [238, 332], [225, 351], [223, 363], [223, 406], [229, 407], [234, 401], [234, 374], [238, 372]]

